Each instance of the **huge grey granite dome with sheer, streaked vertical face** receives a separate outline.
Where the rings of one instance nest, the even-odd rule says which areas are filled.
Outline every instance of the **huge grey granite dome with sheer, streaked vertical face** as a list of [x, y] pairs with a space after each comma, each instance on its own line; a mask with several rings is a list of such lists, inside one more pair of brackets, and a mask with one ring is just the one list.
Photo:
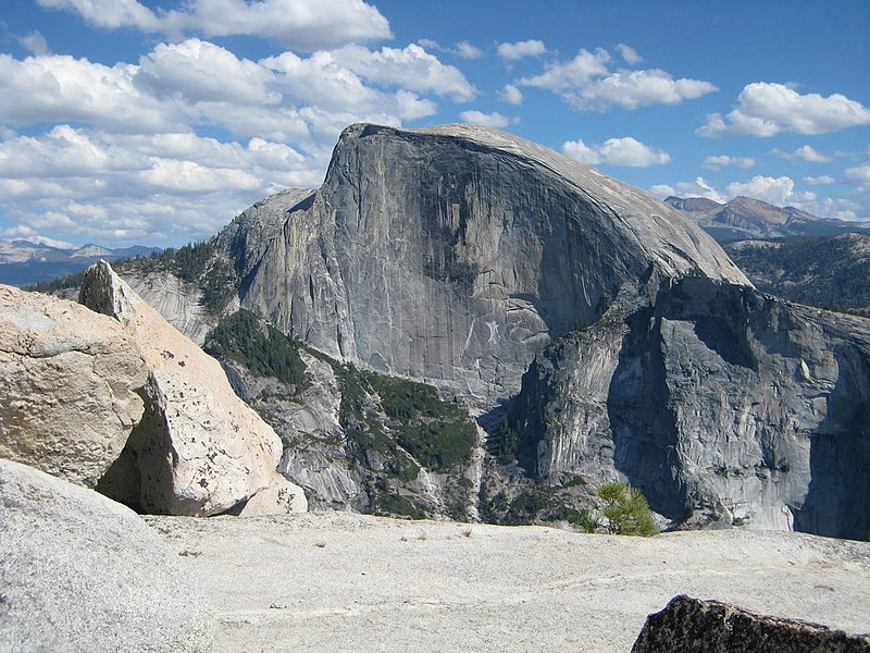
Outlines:
[[241, 304], [341, 359], [515, 394], [534, 355], [620, 291], [687, 275], [750, 285], [679, 212], [593, 168], [470, 125], [345, 130], [315, 193], [221, 236]]

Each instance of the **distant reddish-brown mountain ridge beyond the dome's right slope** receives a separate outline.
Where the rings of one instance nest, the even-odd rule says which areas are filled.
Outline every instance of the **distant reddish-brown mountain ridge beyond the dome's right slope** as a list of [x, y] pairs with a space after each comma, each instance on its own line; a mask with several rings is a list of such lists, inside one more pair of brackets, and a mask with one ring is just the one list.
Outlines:
[[720, 204], [705, 197], [671, 196], [664, 202], [720, 242], [870, 233], [868, 222], [822, 219], [794, 207], [781, 208], [751, 197], [735, 197]]

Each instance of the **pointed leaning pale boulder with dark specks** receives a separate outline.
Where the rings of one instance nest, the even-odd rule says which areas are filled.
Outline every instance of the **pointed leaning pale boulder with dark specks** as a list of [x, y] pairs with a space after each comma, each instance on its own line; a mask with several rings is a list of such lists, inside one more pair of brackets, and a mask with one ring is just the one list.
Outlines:
[[[101, 492], [147, 513], [207, 516], [278, 480], [281, 440], [234, 394], [216, 360], [105, 262], [86, 272], [80, 300], [121, 322], [149, 370], [145, 417], [102, 479]], [[303, 498], [301, 489], [296, 494]], [[275, 510], [304, 509], [302, 503], [281, 502]]]

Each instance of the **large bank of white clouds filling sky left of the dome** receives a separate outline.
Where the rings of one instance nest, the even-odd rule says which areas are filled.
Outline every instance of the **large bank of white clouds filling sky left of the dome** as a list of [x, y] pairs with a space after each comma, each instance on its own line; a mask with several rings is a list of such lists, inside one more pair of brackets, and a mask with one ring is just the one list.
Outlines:
[[399, 126], [434, 114], [432, 97], [476, 93], [420, 46], [254, 61], [186, 38], [115, 65], [0, 54], [0, 236], [204, 238], [268, 194], [316, 186], [348, 124]]

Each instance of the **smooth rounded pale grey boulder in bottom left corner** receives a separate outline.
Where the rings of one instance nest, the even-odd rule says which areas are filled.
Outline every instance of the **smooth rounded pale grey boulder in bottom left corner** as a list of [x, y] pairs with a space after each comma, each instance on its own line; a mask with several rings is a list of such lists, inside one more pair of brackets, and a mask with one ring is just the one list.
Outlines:
[[0, 653], [210, 650], [175, 552], [133, 510], [0, 459]]

